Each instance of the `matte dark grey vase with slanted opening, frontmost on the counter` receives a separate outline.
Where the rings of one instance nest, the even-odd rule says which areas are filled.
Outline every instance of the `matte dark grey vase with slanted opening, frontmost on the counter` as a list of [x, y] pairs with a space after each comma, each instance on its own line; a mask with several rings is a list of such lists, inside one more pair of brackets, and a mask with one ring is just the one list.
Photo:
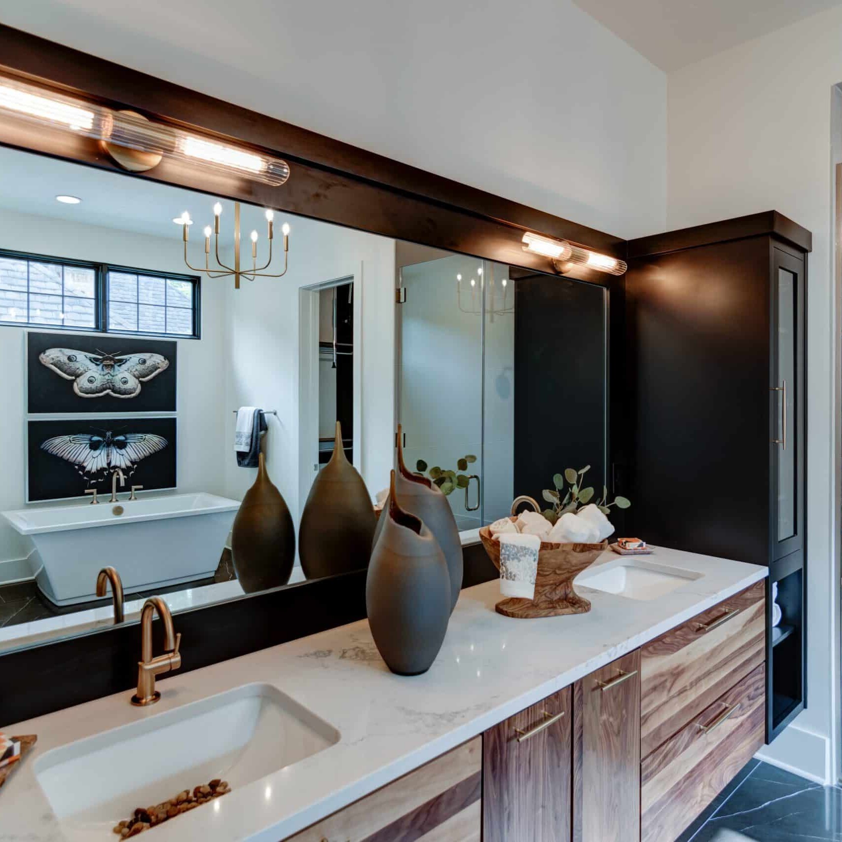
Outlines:
[[450, 573], [433, 533], [396, 502], [392, 471], [383, 528], [371, 553], [365, 608], [371, 637], [398, 675], [425, 673], [439, 654], [450, 619]]

